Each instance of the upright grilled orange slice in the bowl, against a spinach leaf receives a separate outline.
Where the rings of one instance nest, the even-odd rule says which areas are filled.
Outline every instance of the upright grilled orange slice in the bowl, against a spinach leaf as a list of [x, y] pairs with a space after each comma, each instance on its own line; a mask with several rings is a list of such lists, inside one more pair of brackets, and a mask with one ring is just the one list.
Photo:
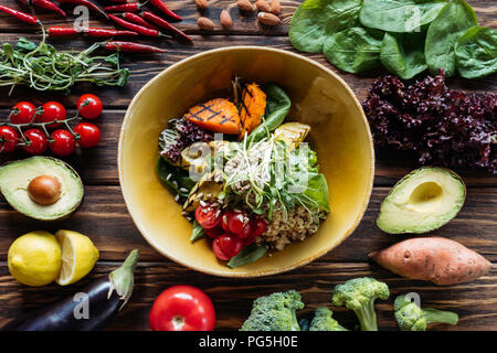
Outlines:
[[261, 125], [261, 118], [266, 110], [266, 94], [257, 84], [250, 84], [242, 89], [242, 99], [240, 106], [240, 119], [242, 131], [239, 140], [245, 135], [248, 136], [253, 129]]

